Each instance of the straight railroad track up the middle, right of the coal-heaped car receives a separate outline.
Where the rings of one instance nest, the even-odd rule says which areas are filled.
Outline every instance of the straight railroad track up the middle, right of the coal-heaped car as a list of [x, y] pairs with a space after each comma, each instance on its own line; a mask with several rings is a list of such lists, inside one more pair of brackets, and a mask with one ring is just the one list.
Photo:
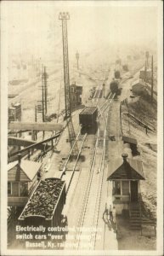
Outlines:
[[[91, 165], [88, 174], [88, 181], [85, 186], [85, 191], [82, 197], [82, 205], [79, 212], [79, 217], [76, 223], [76, 234], [75, 234], [75, 244], [77, 249], [82, 249], [82, 239], [85, 237], [85, 227], [90, 227], [90, 232], [88, 236], [88, 248], [94, 249], [97, 236], [97, 227], [99, 221], [99, 208], [100, 200], [104, 179], [104, 170], [105, 170], [105, 137], [106, 137], [106, 125], [105, 117], [103, 113], [106, 108], [110, 107], [110, 103], [114, 98], [114, 95], [111, 95], [111, 101], [104, 103], [101, 107], [102, 111], [99, 111], [99, 119], [103, 121], [102, 125], [99, 126], [97, 139], [93, 148], [93, 155], [91, 159]], [[102, 136], [103, 134], [103, 136]], [[100, 145], [99, 145], [100, 142]], [[98, 166], [98, 172], [96, 173], [95, 167]], [[94, 186], [92, 186], [94, 184]], [[95, 184], [97, 189], [95, 190]], [[89, 218], [91, 218], [89, 220]], [[88, 223], [89, 221], [89, 223]], [[84, 228], [84, 229], [82, 229]], [[82, 238], [82, 239], [81, 239]]]

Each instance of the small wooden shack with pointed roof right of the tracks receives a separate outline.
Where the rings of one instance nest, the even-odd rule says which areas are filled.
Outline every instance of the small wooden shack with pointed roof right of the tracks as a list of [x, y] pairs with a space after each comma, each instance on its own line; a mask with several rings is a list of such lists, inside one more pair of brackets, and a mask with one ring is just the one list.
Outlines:
[[107, 181], [112, 182], [112, 201], [116, 214], [122, 214], [122, 210], [129, 211], [130, 204], [139, 201], [139, 181], [145, 179], [142, 161], [127, 156], [122, 154], [122, 158], [111, 161], [109, 165]]

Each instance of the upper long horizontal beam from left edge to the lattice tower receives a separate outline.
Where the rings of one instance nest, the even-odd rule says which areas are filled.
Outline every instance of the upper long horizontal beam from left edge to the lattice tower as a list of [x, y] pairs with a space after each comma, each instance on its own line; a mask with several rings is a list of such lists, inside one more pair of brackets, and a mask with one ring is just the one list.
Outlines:
[[49, 123], [24, 123], [10, 122], [8, 123], [9, 130], [31, 130], [31, 131], [61, 131], [63, 125]]

